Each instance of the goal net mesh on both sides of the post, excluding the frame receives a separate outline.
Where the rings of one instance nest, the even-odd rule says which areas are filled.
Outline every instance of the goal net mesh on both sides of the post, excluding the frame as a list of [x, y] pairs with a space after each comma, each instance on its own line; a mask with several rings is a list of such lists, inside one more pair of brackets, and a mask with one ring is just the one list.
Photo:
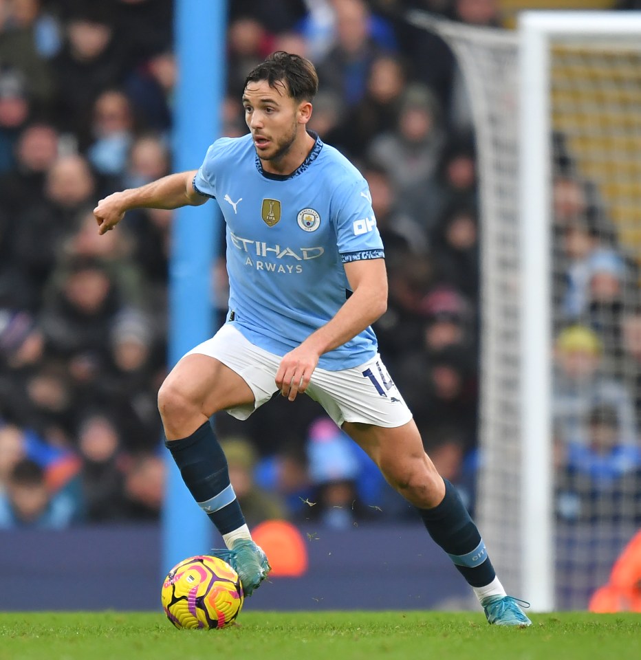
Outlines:
[[[481, 461], [477, 521], [522, 593], [517, 34], [415, 22], [457, 56], [481, 185]], [[586, 608], [641, 522], [641, 40], [554, 36], [550, 245], [554, 597]], [[527, 191], [525, 191], [527, 194]]]

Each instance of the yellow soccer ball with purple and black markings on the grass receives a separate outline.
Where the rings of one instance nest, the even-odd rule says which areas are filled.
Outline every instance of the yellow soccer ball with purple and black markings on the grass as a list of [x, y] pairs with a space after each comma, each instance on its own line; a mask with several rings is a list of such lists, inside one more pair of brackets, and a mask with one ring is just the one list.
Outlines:
[[176, 628], [224, 628], [240, 613], [243, 585], [238, 573], [223, 560], [197, 555], [169, 571], [161, 599]]

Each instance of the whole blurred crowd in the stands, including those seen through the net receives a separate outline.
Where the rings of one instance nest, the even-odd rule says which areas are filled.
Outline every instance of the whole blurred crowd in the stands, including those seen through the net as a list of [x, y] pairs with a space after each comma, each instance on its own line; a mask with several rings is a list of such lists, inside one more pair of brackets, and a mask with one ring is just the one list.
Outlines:
[[[309, 128], [366, 177], [385, 244], [389, 309], [375, 327], [380, 352], [426, 451], [473, 510], [475, 140], [453, 54], [407, 23], [404, 10], [499, 26], [499, 3], [233, 0], [228, 7], [223, 133], [246, 133], [243, 80], [270, 52], [315, 63], [320, 92]], [[156, 393], [168, 368], [173, 214], [130, 212], [117, 231], [98, 236], [91, 210], [109, 192], [171, 171], [172, 16], [171, 0], [0, 2], [0, 527], [159, 515], [165, 468]], [[641, 371], [629, 366], [641, 362], [637, 274], [614, 228], [606, 230], [594, 186], [558, 143], [558, 467], [618, 478], [629, 465], [641, 467]], [[223, 265], [220, 256], [213, 300], [225, 297]], [[610, 369], [617, 364], [628, 365], [628, 382]], [[589, 405], [583, 394], [577, 400], [587, 382]], [[244, 423], [224, 414], [213, 423], [250, 525], [415, 520], [307, 397], [276, 398]], [[572, 506], [576, 514], [580, 502]]]

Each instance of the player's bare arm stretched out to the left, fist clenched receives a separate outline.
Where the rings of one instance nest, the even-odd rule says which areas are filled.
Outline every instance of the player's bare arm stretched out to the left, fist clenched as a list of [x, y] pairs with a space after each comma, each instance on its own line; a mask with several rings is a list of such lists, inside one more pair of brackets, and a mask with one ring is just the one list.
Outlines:
[[209, 198], [194, 189], [195, 175], [196, 170], [170, 174], [140, 188], [113, 192], [100, 199], [94, 208], [98, 233], [105, 234], [113, 229], [133, 208], [180, 208], [204, 204]]

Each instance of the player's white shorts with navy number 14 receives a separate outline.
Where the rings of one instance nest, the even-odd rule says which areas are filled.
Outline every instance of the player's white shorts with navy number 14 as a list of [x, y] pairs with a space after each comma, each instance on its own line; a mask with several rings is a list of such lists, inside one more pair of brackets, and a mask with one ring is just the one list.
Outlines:
[[[278, 391], [275, 379], [281, 356], [254, 346], [230, 323], [186, 355], [194, 353], [216, 358], [250, 386], [254, 404], [228, 408], [232, 417], [247, 419]], [[354, 421], [393, 428], [412, 419], [380, 355], [343, 371], [316, 368], [305, 394], [318, 401], [337, 426]]]

